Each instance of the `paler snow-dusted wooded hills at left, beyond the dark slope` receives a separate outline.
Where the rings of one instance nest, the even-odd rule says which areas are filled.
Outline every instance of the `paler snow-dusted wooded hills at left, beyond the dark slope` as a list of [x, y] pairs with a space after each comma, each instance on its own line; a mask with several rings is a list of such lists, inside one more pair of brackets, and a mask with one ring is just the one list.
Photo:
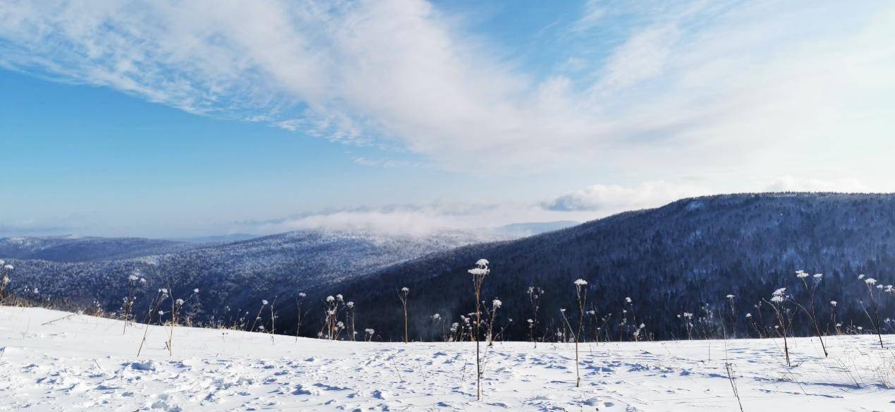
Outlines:
[[[369, 232], [301, 230], [224, 243], [79, 236], [7, 237], [0, 258], [13, 262], [12, 290], [21, 296], [64, 298], [109, 311], [121, 305], [126, 279], [149, 281], [138, 291], [148, 305], [158, 288], [175, 295], [200, 288], [210, 319], [226, 307], [248, 308], [261, 299], [294, 297], [326, 288], [397, 262], [461, 245], [507, 236], [440, 231], [429, 236], [381, 236]], [[138, 304], [139, 305], [139, 304]]]

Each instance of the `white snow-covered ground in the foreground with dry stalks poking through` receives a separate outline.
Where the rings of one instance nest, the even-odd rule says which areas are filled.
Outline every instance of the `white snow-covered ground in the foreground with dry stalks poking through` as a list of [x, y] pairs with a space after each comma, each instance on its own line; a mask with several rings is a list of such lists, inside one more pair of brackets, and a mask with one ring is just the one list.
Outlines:
[[[365, 343], [150, 327], [0, 307], [0, 410], [895, 410], [895, 352], [875, 336], [574, 345], [496, 343], [484, 399], [470, 343]], [[887, 344], [895, 346], [895, 339]]]

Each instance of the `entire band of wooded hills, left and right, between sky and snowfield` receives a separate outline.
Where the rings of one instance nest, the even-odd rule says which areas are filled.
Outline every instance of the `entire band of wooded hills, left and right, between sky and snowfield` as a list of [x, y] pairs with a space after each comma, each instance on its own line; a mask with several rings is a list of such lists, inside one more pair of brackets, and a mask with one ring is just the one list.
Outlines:
[[[839, 302], [839, 319], [866, 323], [867, 290], [857, 275], [866, 273], [882, 285], [895, 281], [893, 194], [707, 196], [560, 228], [565, 225], [510, 225], [503, 235], [484, 230], [430, 236], [310, 230], [206, 244], [6, 238], [0, 239], [0, 258], [13, 258], [13, 290], [20, 294], [38, 288], [39, 296], [82, 304], [96, 300], [107, 310], [120, 307], [124, 279], [135, 271], [149, 280], [138, 306], [147, 305], [158, 288], [170, 286], [175, 296], [200, 288], [200, 299], [193, 304], [199, 306], [197, 320], [244, 316], [257, 311], [261, 299], [276, 296], [277, 329], [286, 331], [294, 325], [294, 299], [303, 292], [311, 310], [303, 333], [310, 336], [319, 330], [323, 299], [342, 294], [354, 301], [358, 328], [374, 328], [383, 339], [400, 339], [399, 288], [411, 289], [415, 339], [434, 336], [438, 326], [430, 320], [433, 313], [449, 324], [473, 311], [466, 270], [481, 258], [491, 262], [492, 270], [483, 299], [503, 302], [499, 322], [507, 339], [527, 339], [524, 320], [533, 317], [526, 293], [530, 286], [546, 291], [539, 334], [561, 330], [559, 309], [575, 308], [575, 279], [588, 282], [587, 307], [597, 314], [588, 322], [609, 316], [604, 331], [620, 339], [630, 339], [631, 328], [640, 323], [644, 335], [679, 338], [684, 329], [677, 314], [732, 317], [730, 303], [739, 314], [729, 326], [748, 330], [743, 313], [769, 318], [767, 305], [755, 305], [774, 289], [805, 296], [796, 270], [823, 273], [816, 298], [824, 327], [830, 326], [832, 308], [824, 304], [830, 300]], [[553, 228], [558, 230], [515, 240], [506, 235]], [[884, 311], [895, 307], [895, 296], [881, 296]]]

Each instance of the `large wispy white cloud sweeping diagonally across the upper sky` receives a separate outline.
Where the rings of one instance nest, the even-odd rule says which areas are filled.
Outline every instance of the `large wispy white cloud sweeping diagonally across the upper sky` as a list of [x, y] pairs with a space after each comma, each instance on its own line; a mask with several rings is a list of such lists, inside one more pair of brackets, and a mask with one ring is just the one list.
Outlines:
[[[7, 0], [0, 64], [337, 141], [396, 142], [455, 170], [636, 165], [660, 180], [737, 164], [777, 176], [794, 159], [882, 156], [862, 148], [895, 130], [884, 109], [895, 105], [893, 10], [589, 2], [578, 31], [622, 37], [592, 78], [573, 81], [533, 76], [422, 0]], [[618, 16], [630, 23], [615, 27]]]

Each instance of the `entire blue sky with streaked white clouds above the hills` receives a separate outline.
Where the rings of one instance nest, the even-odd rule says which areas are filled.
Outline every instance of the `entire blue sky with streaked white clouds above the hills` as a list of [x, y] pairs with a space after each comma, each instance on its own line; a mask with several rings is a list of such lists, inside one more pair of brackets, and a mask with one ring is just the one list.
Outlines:
[[891, 192], [889, 2], [0, 0], [0, 236]]

